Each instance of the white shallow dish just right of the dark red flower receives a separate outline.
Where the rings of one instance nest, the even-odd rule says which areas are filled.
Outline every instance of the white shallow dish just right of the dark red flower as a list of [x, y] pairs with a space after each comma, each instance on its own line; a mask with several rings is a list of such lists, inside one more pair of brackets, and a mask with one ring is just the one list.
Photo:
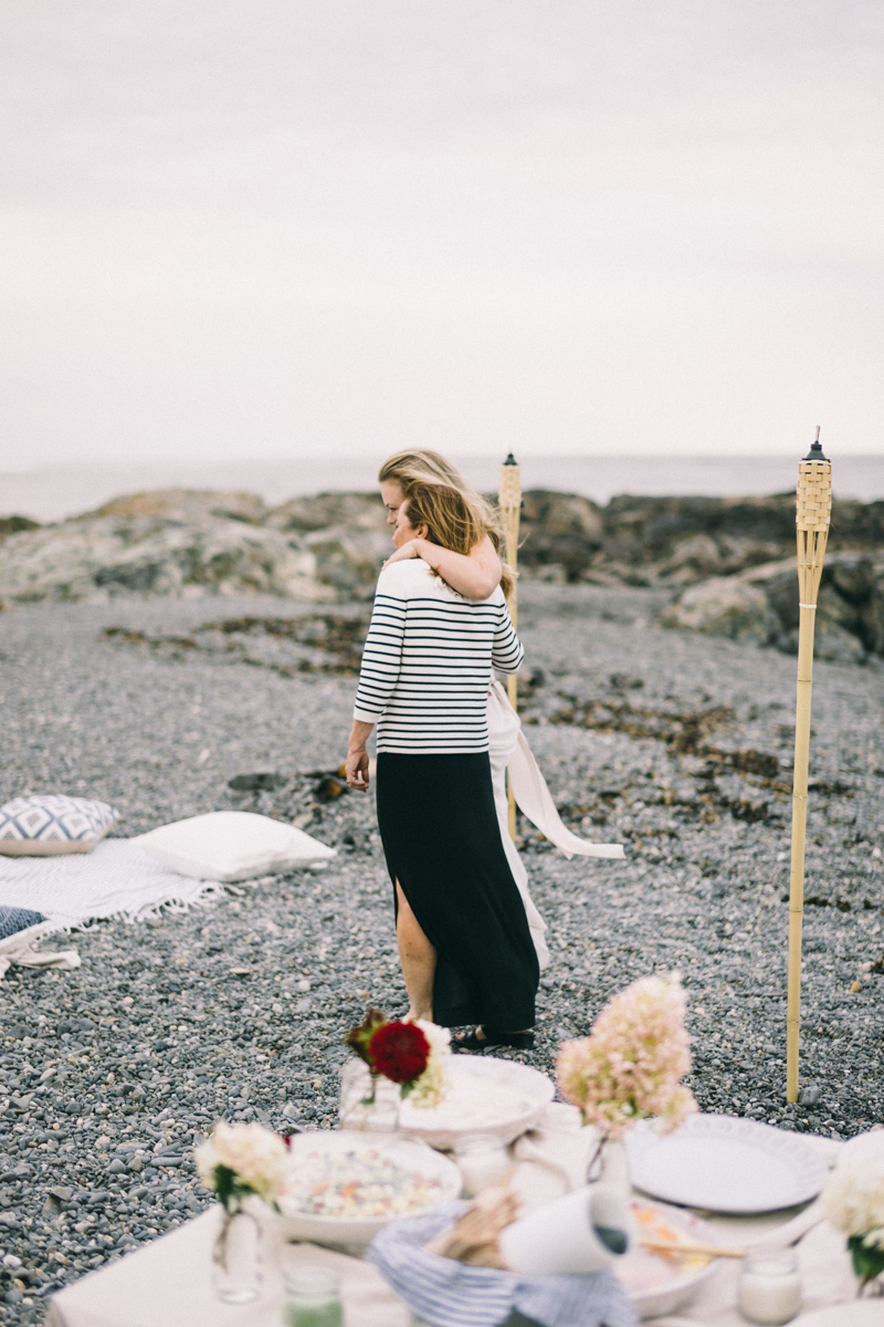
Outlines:
[[432, 1148], [453, 1148], [465, 1133], [496, 1133], [512, 1143], [537, 1124], [555, 1096], [551, 1079], [516, 1060], [452, 1055], [447, 1072], [451, 1087], [437, 1107], [428, 1111], [406, 1097], [399, 1116], [403, 1133]]

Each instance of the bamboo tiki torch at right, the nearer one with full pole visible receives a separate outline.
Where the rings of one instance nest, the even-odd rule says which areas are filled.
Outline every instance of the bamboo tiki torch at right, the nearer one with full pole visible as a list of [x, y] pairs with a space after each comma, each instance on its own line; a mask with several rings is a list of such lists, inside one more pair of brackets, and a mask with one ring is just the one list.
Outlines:
[[795, 701], [795, 774], [793, 783], [793, 852], [789, 881], [789, 1002], [786, 1010], [786, 1100], [798, 1100], [801, 1034], [801, 932], [804, 916], [804, 836], [807, 831], [807, 760], [810, 699], [814, 678], [816, 594], [826, 556], [832, 510], [832, 467], [816, 441], [798, 464], [795, 525], [798, 531], [798, 697]]

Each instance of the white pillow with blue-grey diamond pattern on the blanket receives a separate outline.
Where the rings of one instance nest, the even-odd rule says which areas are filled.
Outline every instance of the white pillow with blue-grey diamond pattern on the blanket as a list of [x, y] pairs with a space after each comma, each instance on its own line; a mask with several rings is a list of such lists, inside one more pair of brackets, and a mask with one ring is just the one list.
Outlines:
[[15, 798], [0, 807], [0, 853], [7, 857], [54, 857], [91, 852], [119, 812], [106, 802], [46, 794]]

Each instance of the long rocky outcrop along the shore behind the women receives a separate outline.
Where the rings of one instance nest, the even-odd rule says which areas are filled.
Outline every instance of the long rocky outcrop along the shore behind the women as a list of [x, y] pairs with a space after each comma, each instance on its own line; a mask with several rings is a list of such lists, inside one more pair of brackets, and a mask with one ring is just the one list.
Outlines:
[[[256, 494], [130, 494], [57, 525], [0, 522], [0, 602], [269, 593], [371, 597], [391, 551], [376, 494], [268, 507]], [[671, 591], [669, 626], [794, 650], [795, 499], [524, 495], [525, 577]], [[836, 499], [816, 618], [818, 654], [884, 656], [884, 502]]]

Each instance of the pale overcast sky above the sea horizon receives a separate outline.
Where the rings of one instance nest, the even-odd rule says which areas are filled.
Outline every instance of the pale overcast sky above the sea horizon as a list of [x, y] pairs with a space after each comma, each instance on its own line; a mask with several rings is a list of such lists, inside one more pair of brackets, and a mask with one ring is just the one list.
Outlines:
[[884, 453], [883, 52], [881, 0], [5, 0], [0, 470]]

